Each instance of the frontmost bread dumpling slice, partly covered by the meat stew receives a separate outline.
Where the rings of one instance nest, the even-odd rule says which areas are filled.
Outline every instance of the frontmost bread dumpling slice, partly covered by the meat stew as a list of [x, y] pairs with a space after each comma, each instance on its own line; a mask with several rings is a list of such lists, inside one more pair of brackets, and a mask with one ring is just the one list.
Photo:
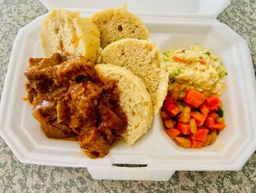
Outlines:
[[103, 77], [117, 81], [120, 105], [128, 118], [127, 130], [122, 137], [131, 146], [153, 122], [153, 106], [145, 84], [123, 67], [101, 64], [96, 65], [95, 69]]

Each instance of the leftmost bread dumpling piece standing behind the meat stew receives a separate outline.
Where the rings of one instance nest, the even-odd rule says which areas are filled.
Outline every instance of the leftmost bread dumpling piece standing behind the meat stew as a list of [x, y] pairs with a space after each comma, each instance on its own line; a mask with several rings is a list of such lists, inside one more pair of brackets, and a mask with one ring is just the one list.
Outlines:
[[95, 61], [100, 45], [100, 33], [89, 18], [79, 17], [79, 12], [55, 9], [43, 23], [41, 43], [45, 57], [53, 53], [83, 55]]

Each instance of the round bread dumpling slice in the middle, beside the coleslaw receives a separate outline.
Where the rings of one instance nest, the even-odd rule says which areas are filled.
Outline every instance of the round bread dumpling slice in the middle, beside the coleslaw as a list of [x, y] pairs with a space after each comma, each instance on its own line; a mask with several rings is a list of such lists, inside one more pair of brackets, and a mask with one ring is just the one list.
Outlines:
[[126, 67], [141, 78], [151, 96], [154, 112], [159, 111], [167, 95], [168, 73], [155, 43], [139, 39], [115, 41], [101, 51], [98, 63]]

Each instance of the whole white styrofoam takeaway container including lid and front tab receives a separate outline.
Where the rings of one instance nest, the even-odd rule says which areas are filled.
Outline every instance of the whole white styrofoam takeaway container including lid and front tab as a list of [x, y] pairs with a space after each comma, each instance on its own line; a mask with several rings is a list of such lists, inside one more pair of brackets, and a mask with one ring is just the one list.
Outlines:
[[[82, 16], [123, 1], [41, 0], [49, 10], [57, 7], [81, 11]], [[216, 20], [229, 0], [129, 0], [127, 7], [143, 19], [151, 40], [161, 51], [200, 44], [223, 59], [229, 85], [221, 96], [227, 128], [217, 141], [201, 150], [177, 146], [167, 134], [159, 114], [149, 132], [132, 147], [117, 142], [105, 158], [89, 159], [77, 142], [46, 138], [31, 114], [25, 97], [29, 57], [44, 57], [40, 42], [42, 15], [23, 27], [15, 39], [0, 106], [0, 134], [20, 162], [49, 166], [86, 167], [95, 179], [169, 180], [175, 170], [240, 170], [256, 149], [256, 85], [251, 55], [245, 40]], [[77, 9], [79, 7], [79, 9]], [[85, 9], [87, 8], [87, 9]], [[113, 164], [145, 164], [119, 167]]]

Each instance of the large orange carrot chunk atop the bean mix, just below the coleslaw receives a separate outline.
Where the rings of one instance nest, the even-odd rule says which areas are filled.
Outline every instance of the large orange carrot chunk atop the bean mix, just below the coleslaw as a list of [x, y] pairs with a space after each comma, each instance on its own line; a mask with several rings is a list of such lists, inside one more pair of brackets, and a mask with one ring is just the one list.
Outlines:
[[184, 101], [193, 107], [198, 107], [205, 100], [205, 96], [199, 91], [189, 89], [184, 97]]

